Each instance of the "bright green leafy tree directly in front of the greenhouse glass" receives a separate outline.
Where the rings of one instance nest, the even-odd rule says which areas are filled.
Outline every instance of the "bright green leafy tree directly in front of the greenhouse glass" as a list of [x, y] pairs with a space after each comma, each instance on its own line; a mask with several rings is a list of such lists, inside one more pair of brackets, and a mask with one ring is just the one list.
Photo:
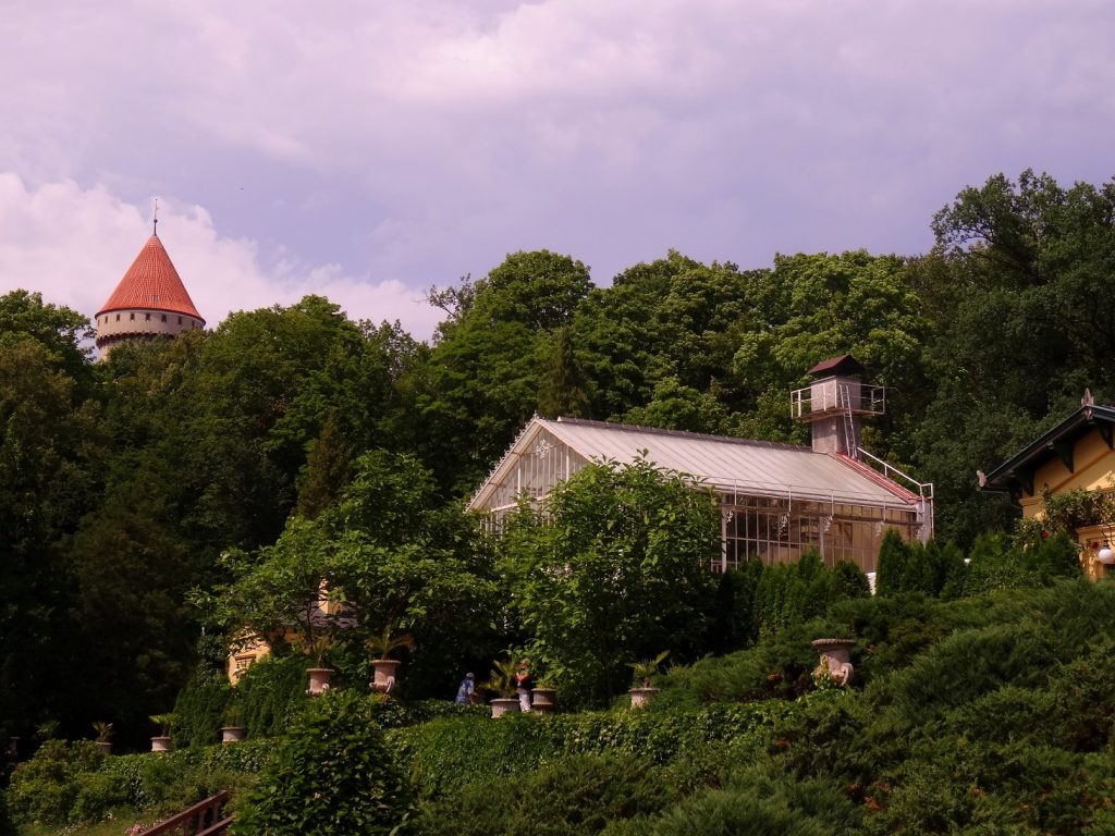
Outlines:
[[709, 492], [643, 458], [591, 465], [511, 521], [500, 547], [514, 612], [564, 699], [599, 704], [632, 659], [701, 651], [717, 524]]

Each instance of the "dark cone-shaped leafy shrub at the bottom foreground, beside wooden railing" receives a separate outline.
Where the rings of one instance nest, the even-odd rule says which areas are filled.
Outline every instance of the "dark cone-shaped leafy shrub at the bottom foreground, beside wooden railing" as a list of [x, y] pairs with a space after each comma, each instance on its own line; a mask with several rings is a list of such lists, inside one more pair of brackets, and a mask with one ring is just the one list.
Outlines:
[[397, 834], [413, 813], [411, 789], [370, 703], [334, 691], [313, 700], [279, 741], [236, 832]]

